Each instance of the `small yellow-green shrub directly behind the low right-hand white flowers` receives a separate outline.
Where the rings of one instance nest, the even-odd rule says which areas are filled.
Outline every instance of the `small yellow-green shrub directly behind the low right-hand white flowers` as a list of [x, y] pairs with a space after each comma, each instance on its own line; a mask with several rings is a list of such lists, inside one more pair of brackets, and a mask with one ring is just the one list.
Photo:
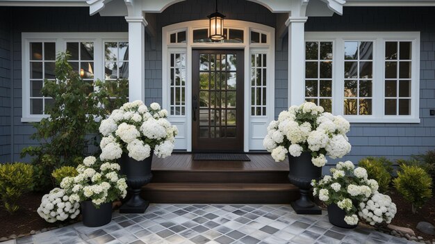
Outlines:
[[358, 162], [359, 167], [367, 170], [368, 178], [375, 179], [379, 184], [379, 192], [386, 193], [391, 183], [391, 161], [386, 158], [368, 156]]

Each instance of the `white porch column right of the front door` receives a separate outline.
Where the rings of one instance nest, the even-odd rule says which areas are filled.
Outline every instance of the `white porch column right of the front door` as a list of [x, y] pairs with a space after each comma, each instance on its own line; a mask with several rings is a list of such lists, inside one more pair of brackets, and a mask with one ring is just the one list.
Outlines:
[[305, 35], [307, 17], [288, 17], [288, 106], [304, 102]]

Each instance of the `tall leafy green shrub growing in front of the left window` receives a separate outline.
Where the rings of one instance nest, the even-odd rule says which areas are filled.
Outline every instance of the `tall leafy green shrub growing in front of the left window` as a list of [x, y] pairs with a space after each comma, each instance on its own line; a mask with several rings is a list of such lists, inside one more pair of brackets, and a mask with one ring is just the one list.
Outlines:
[[93, 86], [72, 70], [68, 58], [67, 53], [58, 54], [57, 81], [44, 81], [42, 95], [53, 97], [53, 102], [44, 111], [49, 117], [33, 124], [36, 132], [31, 139], [40, 145], [22, 150], [22, 156], [33, 156], [35, 190], [51, 188], [53, 170], [64, 165], [75, 167], [83, 156], [92, 153], [89, 145], [98, 145], [99, 141], [97, 118], [106, 117], [112, 108], [126, 101], [127, 81], [120, 81], [119, 86], [113, 81], [97, 81], [94, 92]]

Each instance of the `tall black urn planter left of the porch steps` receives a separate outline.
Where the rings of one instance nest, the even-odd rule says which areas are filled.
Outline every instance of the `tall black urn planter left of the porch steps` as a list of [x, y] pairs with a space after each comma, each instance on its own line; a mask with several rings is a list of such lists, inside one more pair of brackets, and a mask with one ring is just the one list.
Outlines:
[[120, 213], [144, 213], [149, 206], [149, 202], [140, 197], [140, 189], [142, 186], [151, 181], [153, 175], [151, 174], [151, 162], [153, 160], [154, 152], [151, 151], [151, 156], [145, 158], [143, 161], [136, 161], [130, 158], [128, 154], [123, 153], [120, 158], [121, 174], [127, 177], [127, 189], [131, 196], [120, 207]]

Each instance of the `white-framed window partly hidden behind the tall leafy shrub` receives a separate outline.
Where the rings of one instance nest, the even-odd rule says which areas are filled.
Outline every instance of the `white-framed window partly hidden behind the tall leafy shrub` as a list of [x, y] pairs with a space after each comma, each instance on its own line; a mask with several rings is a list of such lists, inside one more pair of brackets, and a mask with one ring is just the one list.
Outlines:
[[68, 51], [69, 64], [81, 79], [128, 79], [127, 33], [22, 33], [22, 122], [47, 117], [53, 102], [42, 95], [44, 79], [55, 80], [56, 55]]

